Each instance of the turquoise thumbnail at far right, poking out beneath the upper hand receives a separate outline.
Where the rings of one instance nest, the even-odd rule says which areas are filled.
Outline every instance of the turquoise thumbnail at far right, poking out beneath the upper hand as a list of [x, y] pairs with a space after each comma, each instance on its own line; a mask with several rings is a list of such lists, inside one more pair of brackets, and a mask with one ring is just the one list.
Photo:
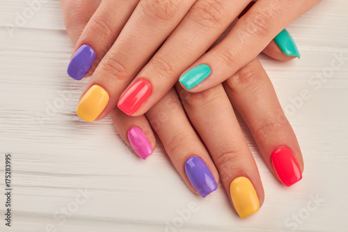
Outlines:
[[274, 38], [276, 44], [280, 47], [282, 52], [287, 56], [297, 56], [300, 58], [299, 49], [297, 49], [294, 39], [290, 36], [290, 33], [286, 29], [278, 33], [278, 36]]

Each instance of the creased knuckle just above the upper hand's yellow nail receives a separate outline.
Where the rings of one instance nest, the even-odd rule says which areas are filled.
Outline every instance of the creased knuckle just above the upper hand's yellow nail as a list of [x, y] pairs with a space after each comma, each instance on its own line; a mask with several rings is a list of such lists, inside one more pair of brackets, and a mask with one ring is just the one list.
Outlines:
[[106, 54], [102, 61], [102, 69], [107, 72], [111, 77], [117, 79], [127, 79], [128, 72], [120, 61], [118, 61], [112, 54]]

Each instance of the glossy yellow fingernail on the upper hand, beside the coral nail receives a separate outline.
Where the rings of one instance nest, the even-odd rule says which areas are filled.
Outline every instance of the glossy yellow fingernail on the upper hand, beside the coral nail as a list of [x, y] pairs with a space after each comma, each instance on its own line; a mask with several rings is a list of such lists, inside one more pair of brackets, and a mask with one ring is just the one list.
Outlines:
[[94, 85], [88, 89], [77, 107], [77, 115], [88, 122], [95, 121], [109, 102], [109, 94], [104, 88]]

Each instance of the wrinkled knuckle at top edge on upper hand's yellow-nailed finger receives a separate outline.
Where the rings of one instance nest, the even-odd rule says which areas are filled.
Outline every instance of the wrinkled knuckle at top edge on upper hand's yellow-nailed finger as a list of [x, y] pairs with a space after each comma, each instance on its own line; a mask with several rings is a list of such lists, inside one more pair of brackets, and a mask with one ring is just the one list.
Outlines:
[[181, 7], [180, 0], [143, 0], [141, 10], [152, 20], [170, 21]]

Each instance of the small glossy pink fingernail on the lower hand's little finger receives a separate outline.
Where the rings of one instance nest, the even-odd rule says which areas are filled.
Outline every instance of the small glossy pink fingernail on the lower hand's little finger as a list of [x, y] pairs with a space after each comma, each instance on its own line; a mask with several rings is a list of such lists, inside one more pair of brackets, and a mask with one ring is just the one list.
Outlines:
[[149, 155], [152, 154], [153, 150], [150, 142], [146, 138], [144, 132], [138, 127], [132, 127], [127, 133], [129, 143], [135, 150], [136, 154], [145, 160]]

